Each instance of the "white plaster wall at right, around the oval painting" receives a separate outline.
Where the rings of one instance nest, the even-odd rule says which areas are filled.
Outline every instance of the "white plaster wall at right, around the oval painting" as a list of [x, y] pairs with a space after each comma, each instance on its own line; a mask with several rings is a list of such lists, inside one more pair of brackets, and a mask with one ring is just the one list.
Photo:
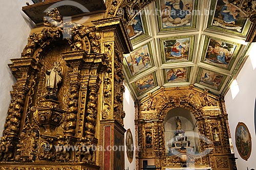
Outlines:
[[[256, 46], [254, 45], [254, 48]], [[252, 54], [256, 57], [255, 53]], [[256, 137], [254, 130], [254, 102], [256, 97], [256, 69], [253, 70], [250, 58], [247, 59], [245, 65], [240, 71], [237, 82], [239, 85], [239, 93], [232, 100], [231, 91], [228, 90], [225, 95], [225, 104], [228, 113], [228, 122], [231, 131], [232, 143], [234, 146], [234, 154], [237, 159], [238, 169], [256, 169]], [[252, 140], [252, 152], [247, 161], [242, 159], [238, 154], [235, 142], [235, 131], [239, 122], [245, 123], [248, 127], [251, 140]]]

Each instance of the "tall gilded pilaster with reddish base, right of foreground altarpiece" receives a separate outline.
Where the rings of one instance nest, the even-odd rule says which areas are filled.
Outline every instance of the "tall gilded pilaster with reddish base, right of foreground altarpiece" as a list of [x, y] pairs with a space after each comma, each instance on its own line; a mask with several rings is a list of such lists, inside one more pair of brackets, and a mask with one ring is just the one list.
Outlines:
[[102, 50], [105, 62], [102, 72], [102, 114], [100, 117], [99, 164], [102, 169], [124, 169], [123, 118], [123, 54], [132, 51], [131, 42], [121, 17], [101, 19], [93, 22], [102, 32]]

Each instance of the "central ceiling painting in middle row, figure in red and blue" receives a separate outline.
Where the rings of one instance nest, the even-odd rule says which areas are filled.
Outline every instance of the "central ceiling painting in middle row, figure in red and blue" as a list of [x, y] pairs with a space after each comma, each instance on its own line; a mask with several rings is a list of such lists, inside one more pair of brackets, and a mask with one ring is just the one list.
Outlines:
[[195, 36], [161, 38], [162, 63], [192, 61]]

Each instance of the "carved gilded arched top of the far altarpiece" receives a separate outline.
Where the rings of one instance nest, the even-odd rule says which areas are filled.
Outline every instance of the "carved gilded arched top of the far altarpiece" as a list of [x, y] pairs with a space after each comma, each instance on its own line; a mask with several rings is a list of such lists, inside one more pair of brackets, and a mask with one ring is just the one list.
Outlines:
[[[207, 90], [199, 92], [193, 87], [180, 90], [178, 88], [173, 88], [173, 90], [169, 91], [163, 91], [162, 88], [157, 96], [155, 95], [153, 98], [152, 94], [150, 94], [148, 98], [141, 102], [140, 115], [142, 115], [142, 117], [139, 117], [139, 119], [144, 119], [145, 117], [147, 117], [147, 119], [163, 119], [163, 114], [167, 110], [180, 106], [184, 108], [193, 108], [193, 112], [196, 114], [195, 116], [200, 117], [202, 116], [203, 109], [218, 108], [219, 103], [216, 99], [218, 98], [207, 94]], [[149, 114], [151, 114], [151, 117], [148, 117]]]

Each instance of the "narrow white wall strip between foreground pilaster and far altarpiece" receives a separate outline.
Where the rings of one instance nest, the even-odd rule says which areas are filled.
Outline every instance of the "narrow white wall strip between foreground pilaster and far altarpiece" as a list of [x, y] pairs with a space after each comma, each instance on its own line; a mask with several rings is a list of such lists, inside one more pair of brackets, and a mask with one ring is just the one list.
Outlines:
[[[125, 111], [125, 117], [124, 117], [124, 128], [127, 129], [131, 129], [132, 135], [133, 135], [133, 143], [135, 145], [135, 124], [134, 124], [134, 101], [132, 99], [132, 96], [129, 92], [129, 90], [125, 87], [125, 92], [124, 92], [124, 100], [123, 100], [123, 110]], [[124, 134], [124, 139], [126, 138], [126, 132]], [[124, 141], [125, 144], [125, 141]], [[125, 147], [126, 148], [126, 147]], [[136, 159], [135, 159], [135, 151], [134, 151], [134, 155], [133, 155], [133, 161], [132, 163], [129, 162], [127, 155], [126, 155], [126, 151], [124, 151], [124, 168], [129, 170], [134, 170], [136, 169]]]

